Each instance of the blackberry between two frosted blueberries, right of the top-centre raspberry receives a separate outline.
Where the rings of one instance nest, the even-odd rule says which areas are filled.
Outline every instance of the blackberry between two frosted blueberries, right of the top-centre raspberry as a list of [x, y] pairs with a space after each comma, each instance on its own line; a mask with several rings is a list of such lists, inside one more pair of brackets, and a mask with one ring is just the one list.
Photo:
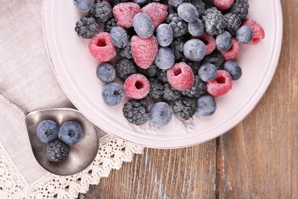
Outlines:
[[180, 37], [187, 32], [187, 22], [178, 16], [178, 13], [169, 14], [166, 23], [173, 29], [174, 37]]

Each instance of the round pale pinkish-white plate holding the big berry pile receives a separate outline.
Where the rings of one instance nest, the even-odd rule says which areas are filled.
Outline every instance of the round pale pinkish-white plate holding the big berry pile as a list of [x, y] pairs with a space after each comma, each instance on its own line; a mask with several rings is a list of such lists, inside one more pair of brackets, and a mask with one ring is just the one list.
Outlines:
[[[99, 62], [89, 54], [89, 39], [74, 31], [75, 22], [87, 13], [79, 12], [72, 0], [44, 0], [43, 28], [46, 48], [56, 77], [69, 99], [90, 121], [126, 141], [152, 148], [179, 148], [211, 140], [228, 131], [247, 116], [268, 88], [281, 51], [283, 19], [279, 0], [249, 0], [248, 18], [260, 23], [266, 37], [258, 45], [241, 46], [237, 62], [243, 75], [232, 90], [216, 98], [217, 111], [211, 117], [183, 121], [175, 116], [165, 127], [152, 123], [130, 124], [122, 107], [107, 106], [101, 97], [104, 86], [96, 75]], [[101, 30], [102, 30], [101, 26]], [[116, 79], [119, 84], [123, 83]], [[151, 105], [153, 102], [148, 100]]]

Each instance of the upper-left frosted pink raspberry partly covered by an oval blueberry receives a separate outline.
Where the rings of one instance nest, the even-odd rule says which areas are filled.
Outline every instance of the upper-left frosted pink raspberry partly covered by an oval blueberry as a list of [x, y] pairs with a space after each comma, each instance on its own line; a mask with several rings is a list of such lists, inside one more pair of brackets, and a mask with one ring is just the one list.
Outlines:
[[130, 28], [133, 27], [134, 16], [141, 12], [141, 8], [137, 3], [123, 2], [115, 5], [113, 12], [118, 26]]

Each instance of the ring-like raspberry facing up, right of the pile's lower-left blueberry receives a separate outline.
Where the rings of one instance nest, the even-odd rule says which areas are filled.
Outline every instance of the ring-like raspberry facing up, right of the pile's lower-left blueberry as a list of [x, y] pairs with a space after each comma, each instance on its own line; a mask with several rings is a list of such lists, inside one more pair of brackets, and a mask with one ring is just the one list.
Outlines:
[[144, 75], [134, 74], [125, 80], [124, 91], [127, 97], [139, 100], [149, 93], [150, 83]]

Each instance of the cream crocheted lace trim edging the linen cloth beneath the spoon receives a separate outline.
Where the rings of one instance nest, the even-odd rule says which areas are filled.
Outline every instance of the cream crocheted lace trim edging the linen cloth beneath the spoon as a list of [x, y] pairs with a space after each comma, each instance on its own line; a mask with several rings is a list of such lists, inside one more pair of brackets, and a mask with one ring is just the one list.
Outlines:
[[100, 138], [98, 154], [84, 171], [68, 177], [47, 174], [29, 185], [0, 142], [0, 198], [77, 198], [78, 193], [86, 193], [89, 185], [98, 184], [101, 177], [120, 169], [123, 162], [131, 162], [134, 154], [141, 154], [143, 149], [107, 134]]

